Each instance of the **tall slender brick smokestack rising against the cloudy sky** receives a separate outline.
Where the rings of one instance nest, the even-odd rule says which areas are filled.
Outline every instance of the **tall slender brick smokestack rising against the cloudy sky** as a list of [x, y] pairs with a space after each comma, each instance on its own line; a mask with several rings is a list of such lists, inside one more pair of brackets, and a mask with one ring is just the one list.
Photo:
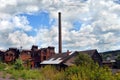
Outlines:
[[62, 53], [62, 27], [61, 27], [61, 12], [58, 12], [58, 41], [59, 41], [59, 52], [58, 53]]

